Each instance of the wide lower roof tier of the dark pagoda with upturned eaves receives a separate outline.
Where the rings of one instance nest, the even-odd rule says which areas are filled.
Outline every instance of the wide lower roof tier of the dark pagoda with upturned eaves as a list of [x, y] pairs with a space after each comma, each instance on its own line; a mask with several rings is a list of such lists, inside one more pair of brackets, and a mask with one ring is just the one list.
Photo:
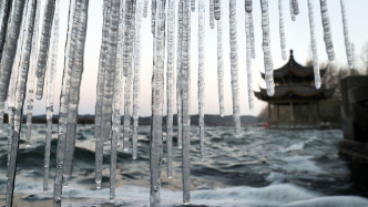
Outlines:
[[273, 96], [267, 95], [267, 90], [262, 89], [254, 92], [255, 96], [262, 101], [280, 101], [280, 100], [325, 100], [333, 96], [334, 89], [316, 89], [309, 85], [276, 86]]

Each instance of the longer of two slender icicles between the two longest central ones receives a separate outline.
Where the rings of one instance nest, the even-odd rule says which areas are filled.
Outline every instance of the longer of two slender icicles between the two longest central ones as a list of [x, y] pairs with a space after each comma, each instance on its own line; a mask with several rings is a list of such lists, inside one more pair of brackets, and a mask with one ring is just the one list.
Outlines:
[[167, 177], [172, 177], [173, 163], [173, 93], [175, 66], [175, 0], [168, 0], [167, 10], [167, 72], [166, 72], [166, 146], [167, 146]]

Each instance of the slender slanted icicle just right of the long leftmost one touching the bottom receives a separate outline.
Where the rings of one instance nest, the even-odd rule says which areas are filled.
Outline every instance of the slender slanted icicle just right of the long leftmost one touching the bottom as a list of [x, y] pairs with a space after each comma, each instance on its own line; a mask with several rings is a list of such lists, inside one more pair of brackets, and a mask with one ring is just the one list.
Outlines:
[[37, 1], [35, 19], [34, 19], [34, 29], [33, 29], [33, 39], [32, 39], [32, 52], [31, 52], [31, 62], [30, 71], [28, 75], [28, 105], [27, 105], [27, 143], [30, 144], [31, 133], [32, 133], [32, 115], [33, 115], [33, 101], [34, 101], [34, 77], [35, 77], [35, 68], [37, 68], [37, 54], [39, 48], [39, 22], [40, 22], [40, 10], [41, 10], [41, 0]]

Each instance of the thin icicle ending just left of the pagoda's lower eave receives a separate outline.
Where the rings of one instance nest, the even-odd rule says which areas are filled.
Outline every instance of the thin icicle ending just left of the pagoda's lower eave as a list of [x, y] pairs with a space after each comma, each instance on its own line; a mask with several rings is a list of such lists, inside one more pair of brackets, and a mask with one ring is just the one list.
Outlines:
[[253, 86], [252, 86], [252, 59], [251, 59], [251, 33], [249, 33], [249, 14], [245, 14], [245, 34], [246, 34], [246, 72], [248, 83], [248, 105], [253, 110]]

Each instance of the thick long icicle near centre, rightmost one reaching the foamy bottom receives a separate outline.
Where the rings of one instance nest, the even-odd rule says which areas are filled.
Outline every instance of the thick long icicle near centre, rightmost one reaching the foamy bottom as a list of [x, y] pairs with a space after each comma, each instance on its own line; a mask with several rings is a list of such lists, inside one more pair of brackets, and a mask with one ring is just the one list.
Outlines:
[[191, 114], [190, 114], [190, 95], [191, 95], [191, 13], [188, 0], [183, 2], [183, 38], [182, 38], [182, 105], [183, 105], [183, 203], [191, 201]]

